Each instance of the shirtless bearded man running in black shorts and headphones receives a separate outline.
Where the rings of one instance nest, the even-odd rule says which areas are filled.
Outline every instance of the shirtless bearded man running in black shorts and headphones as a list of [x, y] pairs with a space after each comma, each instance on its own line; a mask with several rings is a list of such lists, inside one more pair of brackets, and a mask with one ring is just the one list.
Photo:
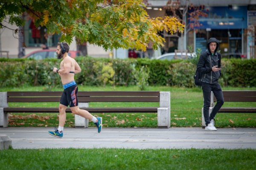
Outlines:
[[58, 42], [57, 44], [57, 57], [62, 59], [60, 68], [53, 68], [54, 73], [58, 73], [61, 77], [61, 82], [63, 84], [63, 94], [61, 96], [61, 101], [59, 105], [59, 127], [55, 127], [55, 131], [48, 131], [52, 136], [58, 138], [63, 137], [63, 128], [66, 122], [66, 109], [70, 106], [70, 110], [73, 114], [77, 114], [86, 119], [91, 120], [98, 127], [98, 133], [102, 129], [102, 118], [94, 117], [88, 111], [82, 110], [78, 106], [77, 91], [78, 87], [74, 80], [75, 74], [81, 72], [81, 68], [75, 59], [68, 55], [69, 45], [67, 42]]

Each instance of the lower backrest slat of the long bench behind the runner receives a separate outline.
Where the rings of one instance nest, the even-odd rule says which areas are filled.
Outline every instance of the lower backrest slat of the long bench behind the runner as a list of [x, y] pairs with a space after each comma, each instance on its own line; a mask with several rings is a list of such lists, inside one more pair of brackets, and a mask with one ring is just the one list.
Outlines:
[[[8, 102], [60, 102], [61, 97], [9, 97]], [[159, 97], [78, 97], [79, 102], [159, 102]]]

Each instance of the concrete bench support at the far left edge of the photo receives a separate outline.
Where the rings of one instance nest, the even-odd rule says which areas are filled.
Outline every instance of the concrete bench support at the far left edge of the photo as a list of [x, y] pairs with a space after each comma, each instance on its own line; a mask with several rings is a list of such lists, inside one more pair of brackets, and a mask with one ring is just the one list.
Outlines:
[[0, 92], [0, 127], [8, 127], [8, 114], [3, 112], [3, 108], [8, 107], [7, 92]]

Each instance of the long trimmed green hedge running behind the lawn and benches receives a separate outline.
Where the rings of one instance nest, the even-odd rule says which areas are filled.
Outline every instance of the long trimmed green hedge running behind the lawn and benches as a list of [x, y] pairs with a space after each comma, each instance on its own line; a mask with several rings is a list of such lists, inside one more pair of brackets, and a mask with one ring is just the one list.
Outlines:
[[[151, 59], [95, 59], [78, 57], [82, 72], [76, 74], [76, 82], [81, 85], [136, 85], [134, 74], [142, 66], [149, 70], [149, 85], [170, 85], [194, 87], [193, 76], [196, 65], [190, 60]], [[48, 90], [59, 85], [61, 79], [52, 72], [61, 60], [0, 59], [0, 86], [46, 85]], [[256, 59], [222, 60], [223, 86], [255, 87]]]

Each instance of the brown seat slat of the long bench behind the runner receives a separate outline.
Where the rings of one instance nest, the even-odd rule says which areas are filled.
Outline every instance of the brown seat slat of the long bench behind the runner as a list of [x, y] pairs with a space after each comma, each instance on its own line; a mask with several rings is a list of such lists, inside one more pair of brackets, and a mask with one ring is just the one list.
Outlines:
[[[80, 108], [87, 110], [91, 113], [157, 113], [157, 107], [141, 107], [141, 108]], [[58, 108], [4, 108], [4, 112], [11, 113], [58, 113]], [[71, 112], [70, 108], [67, 108], [66, 112]]]

